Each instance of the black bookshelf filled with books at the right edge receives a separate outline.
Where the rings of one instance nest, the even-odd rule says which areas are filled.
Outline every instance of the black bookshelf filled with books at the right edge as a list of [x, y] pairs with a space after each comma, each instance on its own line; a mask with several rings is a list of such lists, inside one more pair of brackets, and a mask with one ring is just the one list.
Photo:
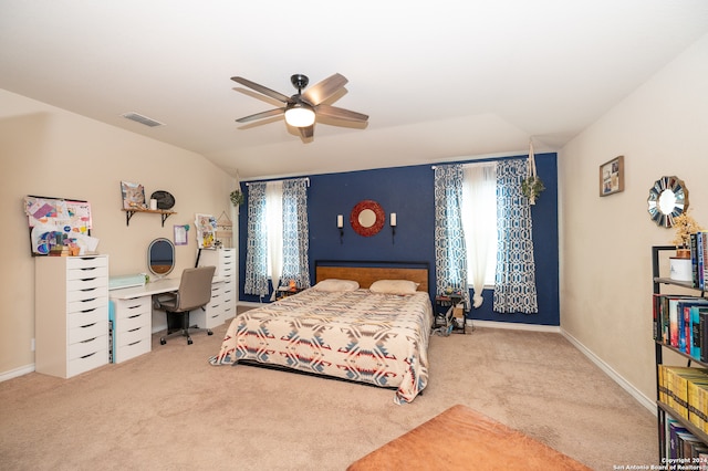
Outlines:
[[[693, 401], [690, 404], [686, 404], [685, 410], [680, 410], [683, 407], [683, 399], [679, 399], [679, 393], [683, 388], [670, 386], [670, 380], [667, 379], [669, 373], [666, 371], [666, 367], [664, 365], [664, 353], [673, 352], [678, 355], [679, 358], [684, 357], [686, 359], [686, 367], [693, 367], [695, 371], [698, 371], [699, 368], [708, 368], [708, 362], [701, 362], [699, 358], [691, 356], [686, 353], [686, 349], [681, 349], [678, 346], [673, 346], [670, 338], [667, 338], [666, 328], [663, 326], [664, 316], [662, 314], [657, 314], [657, 297], [662, 295], [670, 295], [671, 289], [680, 289], [681, 293], [690, 293], [684, 294], [685, 296], [690, 297], [699, 297], [705, 299], [706, 292], [704, 290], [695, 287], [693, 282], [677, 281], [670, 278], [662, 276], [660, 265], [664, 259], [667, 258], [667, 254], [670, 252], [676, 252], [675, 245], [655, 245], [652, 248], [652, 272], [653, 272], [653, 320], [654, 320], [654, 341], [655, 341], [655, 358], [656, 358], [656, 408], [657, 408], [657, 435], [658, 435], [658, 443], [659, 443], [659, 462], [666, 463], [667, 459], [678, 458], [673, 456], [673, 444], [674, 433], [671, 429], [683, 428], [687, 433], [693, 435], [698, 439], [699, 442], [702, 442], [702, 446], [708, 450], [708, 429], [702, 426], [702, 423], [696, 423], [696, 420], [689, 419], [686, 417], [689, 412], [689, 405], [694, 406], [694, 410], [706, 415], [706, 409], [708, 409], [708, 405], [705, 402]], [[664, 255], [664, 257], [662, 257]], [[676, 290], [674, 290], [676, 291]], [[690, 332], [690, 331], [689, 331]], [[686, 339], [686, 342], [691, 342], [690, 338]], [[689, 348], [690, 349], [690, 348]], [[671, 367], [681, 369], [684, 373], [694, 371], [685, 370], [683, 367]], [[670, 374], [677, 378], [683, 377], [680, 374], [673, 373]], [[701, 381], [701, 380], [698, 380]], [[676, 381], [678, 383], [678, 381]], [[706, 376], [706, 384], [708, 384], [708, 375]], [[686, 396], [687, 398], [688, 396]], [[708, 397], [708, 395], [707, 395]], [[700, 406], [698, 406], [700, 404]], [[696, 417], [700, 416], [698, 414]], [[694, 417], [695, 419], [695, 417]], [[700, 422], [700, 421], [699, 421]], [[698, 444], [700, 447], [701, 444]], [[700, 454], [701, 458], [696, 458], [696, 460], [705, 460], [705, 456]], [[681, 454], [680, 458], [684, 458]], [[690, 460], [690, 457], [686, 457]], [[691, 461], [686, 461], [691, 462]], [[693, 461], [699, 462], [699, 461]], [[705, 463], [705, 461], [700, 461]]]

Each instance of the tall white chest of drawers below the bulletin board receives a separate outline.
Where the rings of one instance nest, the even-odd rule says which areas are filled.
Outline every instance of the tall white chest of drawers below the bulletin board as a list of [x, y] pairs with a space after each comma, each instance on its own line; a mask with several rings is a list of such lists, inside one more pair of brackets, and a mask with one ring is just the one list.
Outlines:
[[34, 261], [34, 369], [70, 378], [106, 365], [108, 257]]

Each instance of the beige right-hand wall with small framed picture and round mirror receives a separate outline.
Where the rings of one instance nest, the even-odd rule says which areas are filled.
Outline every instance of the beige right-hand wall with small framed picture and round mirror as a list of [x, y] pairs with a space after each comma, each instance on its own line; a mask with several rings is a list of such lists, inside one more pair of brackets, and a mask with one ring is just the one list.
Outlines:
[[[561, 327], [652, 401], [650, 247], [674, 231], [650, 221], [646, 199], [676, 175], [708, 228], [706, 84], [708, 35], [559, 153]], [[600, 198], [598, 167], [618, 155], [625, 190]]]

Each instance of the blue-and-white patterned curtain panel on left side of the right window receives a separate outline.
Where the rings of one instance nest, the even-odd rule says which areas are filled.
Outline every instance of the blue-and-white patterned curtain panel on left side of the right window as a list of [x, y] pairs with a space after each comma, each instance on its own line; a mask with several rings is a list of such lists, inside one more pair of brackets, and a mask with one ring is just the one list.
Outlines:
[[462, 293], [469, 308], [467, 251], [462, 230], [462, 166], [435, 169], [435, 271], [436, 292], [447, 287]]

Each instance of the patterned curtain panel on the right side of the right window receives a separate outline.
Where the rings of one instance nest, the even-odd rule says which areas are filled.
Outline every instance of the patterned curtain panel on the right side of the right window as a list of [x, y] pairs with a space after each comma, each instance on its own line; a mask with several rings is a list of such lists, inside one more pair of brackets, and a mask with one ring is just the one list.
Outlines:
[[521, 193], [527, 160], [501, 160], [497, 166], [497, 275], [493, 310], [499, 313], [539, 312], [531, 206]]

